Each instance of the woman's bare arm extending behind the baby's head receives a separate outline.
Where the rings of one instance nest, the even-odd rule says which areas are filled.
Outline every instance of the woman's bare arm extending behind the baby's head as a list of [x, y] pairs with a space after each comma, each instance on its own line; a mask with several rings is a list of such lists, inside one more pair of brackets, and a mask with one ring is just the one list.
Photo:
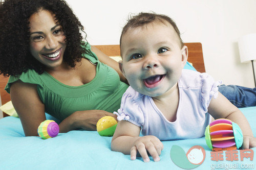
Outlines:
[[116, 62], [114, 59], [110, 58], [109, 56], [105, 55], [104, 53], [102, 53], [100, 50], [98, 50], [98, 48], [96, 48], [95, 46], [91, 46], [92, 51], [97, 55], [98, 59], [100, 62], [112, 67], [113, 69], [115, 69], [120, 77], [120, 80], [124, 83], [127, 83], [126, 78], [123, 76], [121, 70], [119, 69], [119, 64], [118, 62]]

